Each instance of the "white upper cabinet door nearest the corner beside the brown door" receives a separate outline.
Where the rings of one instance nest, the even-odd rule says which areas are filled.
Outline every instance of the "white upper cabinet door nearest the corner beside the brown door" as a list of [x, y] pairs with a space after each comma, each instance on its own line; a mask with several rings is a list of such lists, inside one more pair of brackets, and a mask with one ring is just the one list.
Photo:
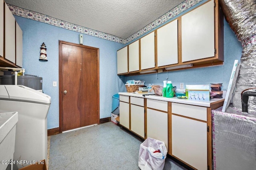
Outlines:
[[117, 74], [128, 72], [128, 47], [117, 51]]

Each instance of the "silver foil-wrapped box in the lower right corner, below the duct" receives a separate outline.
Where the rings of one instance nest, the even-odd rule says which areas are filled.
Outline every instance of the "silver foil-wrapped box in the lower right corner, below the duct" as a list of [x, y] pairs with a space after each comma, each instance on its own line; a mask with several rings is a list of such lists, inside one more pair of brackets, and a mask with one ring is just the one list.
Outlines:
[[256, 114], [221, 110], [212, 110], [213, 170], [256, 170]]

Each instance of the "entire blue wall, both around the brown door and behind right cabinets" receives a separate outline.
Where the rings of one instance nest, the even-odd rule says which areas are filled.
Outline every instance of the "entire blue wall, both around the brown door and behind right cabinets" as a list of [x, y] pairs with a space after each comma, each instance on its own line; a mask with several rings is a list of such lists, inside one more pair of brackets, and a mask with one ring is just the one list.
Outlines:
[[[206, 2], [206, 0], [203, 0], [196, 6], [204, 2]], [[196, 6], [193, 6], [186, 12], [196, 8]], [[176, 16], [172, 20], [181, 15], [183, 14]], [[58, 82], [58, 41], [62, 40], [79, 43], [79, 33], [18, 16], [15, 16], [15, 18], [23, 31], [23, 67], [26, 69], [26, 74], [34, 74], [43, 78], [44, 93], [52, 97], [52, 104], [48, 113], [48, 129], [58, 127], [58, 85], [57, 87], [52, 87], [53, 81]], [[134, 41], [136, 40], [137, 39]], [[43, 42], [47, 46], [48, 56], [48, 62], [45, 63], [38, 61], [40, 45]], [[89, 35], [84, 35], [84, 45], [100, 49], [100, 118], [110, 117], [112, 109], [112, 95], [126, 91], [124, 86], [124, 82], [126, 82], [126, 80], [145, 80], [146, 84], [150, 83], [160, 85], [162, 85], [163, 80], [166, 80], [166, 72], [159, 73], [157, 75], [158, 79], [156, 79], [156, 73], [119, 78], [116, 75], [116, 51], [126, 45]], [[180, 82], [184, 82], [184, 85], [223, 83], [222, 90], [225, 90], [228, 86], [234, 60], [240, 59], [241, 53], [242, 46], [236, 39], [236, 36], [230, 29], [228, 23], [225, 21], [224, 65], [180, 71], [168, 71], [168, 80], [172, 80], [173, 85], [177, 87], [179, 87]]]

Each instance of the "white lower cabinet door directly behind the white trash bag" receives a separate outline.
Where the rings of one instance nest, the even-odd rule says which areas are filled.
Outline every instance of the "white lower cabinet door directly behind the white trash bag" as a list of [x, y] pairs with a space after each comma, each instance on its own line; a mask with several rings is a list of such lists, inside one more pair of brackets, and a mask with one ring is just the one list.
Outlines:
[[163, 141], [168, 150], [168, 114], [147, 109], [147, 137]]

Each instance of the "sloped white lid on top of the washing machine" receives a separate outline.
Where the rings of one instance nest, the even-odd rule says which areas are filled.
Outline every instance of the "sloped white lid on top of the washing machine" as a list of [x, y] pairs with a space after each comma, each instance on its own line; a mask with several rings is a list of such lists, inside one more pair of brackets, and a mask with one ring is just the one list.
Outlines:
[[28, 88], [22, 85], [4, 85], [8, 94], [9, 99], [15, 99], [22, 102], [33, 102], [50, 105], [51, 97], [38, 92], [32, 88]]

